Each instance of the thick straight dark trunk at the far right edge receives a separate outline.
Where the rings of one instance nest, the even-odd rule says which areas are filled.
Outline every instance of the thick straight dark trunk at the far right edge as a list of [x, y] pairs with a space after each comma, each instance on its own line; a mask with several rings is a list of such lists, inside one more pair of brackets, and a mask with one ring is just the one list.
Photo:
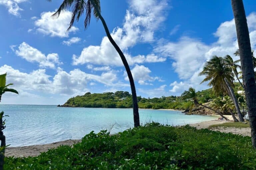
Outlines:
[[252, 145], [256, 148], [256, 83], [253, 70], [251, 43], [242, 0], [231, 0], [239, 46], [243, 84], [251, 126]]

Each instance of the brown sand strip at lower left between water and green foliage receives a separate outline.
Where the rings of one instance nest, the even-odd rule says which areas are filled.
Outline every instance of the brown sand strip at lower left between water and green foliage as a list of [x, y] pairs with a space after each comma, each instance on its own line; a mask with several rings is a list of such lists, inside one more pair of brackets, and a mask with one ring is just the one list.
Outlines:
[[40, 152], [46, 152], [48, 149], [56, 148], [60, 145], [73, 145], [81, 140], [64, 140], [60, 142], [54, 142], [44, 145], [31, 145], [31, 146], [21, 146], [21, 147], [8, 147], [5, 150], [5, 156], [14, 157], [28, 157], [37, 156]]

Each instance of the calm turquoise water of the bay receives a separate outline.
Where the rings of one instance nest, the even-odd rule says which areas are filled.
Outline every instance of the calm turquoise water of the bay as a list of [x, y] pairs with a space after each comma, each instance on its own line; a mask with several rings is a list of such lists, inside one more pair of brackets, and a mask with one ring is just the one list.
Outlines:
[[[133, 127], [132, 109], [62, 108], [45, 105], [0, 105], [6, 115], [6, 144], [27, 146], [67, 139], [111, 129], [111, 133]], [[213, 116], [184, 115], [180, 111], [140, 109], [140, 122], [186, 125], [216, 119]], [[113, 127], [112, 127], [113, 126]]]

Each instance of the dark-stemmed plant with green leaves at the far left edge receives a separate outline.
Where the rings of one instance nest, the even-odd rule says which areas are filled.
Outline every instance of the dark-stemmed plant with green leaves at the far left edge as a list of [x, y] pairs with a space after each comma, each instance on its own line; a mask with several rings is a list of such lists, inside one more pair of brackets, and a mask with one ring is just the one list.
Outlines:
[[[0, 75], [0, 102], [1, 102], [1, 98], [2, 95], [5, 92], [12, 92], [12, 93], [16, 93], [19, 94], [15, 89], [9, 89], [7, 88], [8, 86], [13, 85], [13, 84], [7, 84], [6, 85], [6, 73]], [[4, 153], [5, 153], [5, 147], [6, 147], [6, 143], [5, 143], [5, 135], [3, 133], [3, 129], [5, 129], [5, 120], [3, 121], [3, 116], [4, 112], [0, 112], [0, 140], [1, 140], [1, 152], [0, 152], [0, 170], [3, 170], [4, 167]], [[7, 116], [7, 115], [6, 115]]]

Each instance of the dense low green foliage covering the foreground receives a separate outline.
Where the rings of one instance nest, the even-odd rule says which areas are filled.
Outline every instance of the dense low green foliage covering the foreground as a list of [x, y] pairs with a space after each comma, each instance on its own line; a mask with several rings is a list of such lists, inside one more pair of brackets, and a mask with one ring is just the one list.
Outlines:
[[250, 137], [208, 129], [161, 126], [87, 134], [81, 143], [37, 157], [5, 159], [5, 169], [254, 169]]

